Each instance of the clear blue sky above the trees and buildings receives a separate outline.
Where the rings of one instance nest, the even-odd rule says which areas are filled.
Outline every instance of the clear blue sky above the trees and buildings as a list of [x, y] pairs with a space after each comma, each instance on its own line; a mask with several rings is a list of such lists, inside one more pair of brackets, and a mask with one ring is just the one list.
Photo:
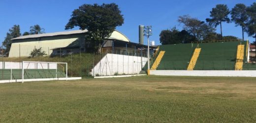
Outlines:
[[[183, 28], [177, 22], [178, 16], [189, 14], [205, 21], [216, 4], [227, 4], [231, 9], [236, 3], [249, 6], [254, 0], [0, 0], [0, 42], [15, 24], [20, 25], [22, 33], [35, 24], [44, 28], [45, 32], [65, 31], [64, 26], [71, 12], [80, 5], [111, 2], [119, 5], [125, 18], [125, 23], [117, 27], [118, 31], [127, 35], [132, 42], [138, 42], [138, 25], [152, 25], [150, 40], [160, 44], [160, 31], [174, 26], [180, 30]], [[219, 26], [216, 31], [220, 33]], [[234, 23], [224, 23], [223, 35], [242, 38], [241, 28], [235, 27]], [[255, 40], [247, 34], [245, 39]]]

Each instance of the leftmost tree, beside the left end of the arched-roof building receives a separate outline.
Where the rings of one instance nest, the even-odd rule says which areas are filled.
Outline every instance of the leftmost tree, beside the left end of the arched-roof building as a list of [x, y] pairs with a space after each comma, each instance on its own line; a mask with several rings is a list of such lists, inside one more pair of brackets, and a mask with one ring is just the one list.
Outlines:
[[14, 25], [11, 29], [9, 29], [9, 32], [6, 33], [6, 37], [4, 41], [2, 42], [2, 45], [5, 47], [5, 52], [9, 52], [11, 48], [11, 39], [15, 37], [19, 37], [21, 35], [20, 33], [20, 26]]

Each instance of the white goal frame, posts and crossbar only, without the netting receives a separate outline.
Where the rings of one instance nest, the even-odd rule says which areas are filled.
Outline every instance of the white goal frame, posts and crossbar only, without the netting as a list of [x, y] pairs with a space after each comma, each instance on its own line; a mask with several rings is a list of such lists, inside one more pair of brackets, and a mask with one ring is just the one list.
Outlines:
[[[58, 67], [58, 65], [57, 64], [65, 64], [65, 70], [66, 70], [66, 72], [65, 72], [65, 78], [66, 78], [66, 80], [67, 80], [67, 62], [30, 62], [30, 61], [22, 61], [22, 83], [24, 83], [24, 63], [47, 63], [48, 65], [49, 65], [49, 63], [56, 63], [56, 77], [57, 77], [57, 67]], [[29, 66], [29, 65], [28, 65]], [[63, 65], [61, 65], [61, 66], [63, 66]], [[41, 64], [41, 67], [42, 67], [42, 69], [43, 69], [43, 66], [42, 66], [42, 64]], [[28, 67], [27, 67], [28, 68]], [[26, 69], [26, 68], [25, 68]], [[36, 69], [36, 68], [35, 68]]]

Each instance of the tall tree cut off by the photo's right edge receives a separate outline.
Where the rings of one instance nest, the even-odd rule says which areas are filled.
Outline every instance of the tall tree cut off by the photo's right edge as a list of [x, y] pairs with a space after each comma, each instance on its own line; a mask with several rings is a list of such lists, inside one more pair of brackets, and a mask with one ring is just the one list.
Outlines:
[[246, 32], [249, 36], [253, 36], [256, 41], [256, 2], [249, 6], [246, 11], [249, 16], [249, 21], [246, 23]]

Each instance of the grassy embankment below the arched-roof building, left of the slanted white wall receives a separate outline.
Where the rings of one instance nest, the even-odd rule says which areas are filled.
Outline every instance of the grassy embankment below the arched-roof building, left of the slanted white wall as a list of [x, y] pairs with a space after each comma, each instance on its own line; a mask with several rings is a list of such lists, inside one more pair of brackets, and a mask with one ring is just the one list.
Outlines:
[[[71, 55], [68, 56], [55, 56], [55, 57], [19, 57], [17, 58], [3, 58], [3, 62], [22, 62], [22, 61], [35, 61], [35, 62], [67, 62], [68, 76], [80, 77], [81, 71], [82, 76], [88, 76], [90, 70], [93, 68], [93, 63], [99, 62], [100, 58], [104, 55], [94, 55], [94, 54], [73, 54], [72, 62]], [[81, 61], [81, 62], [80, 62]]]

